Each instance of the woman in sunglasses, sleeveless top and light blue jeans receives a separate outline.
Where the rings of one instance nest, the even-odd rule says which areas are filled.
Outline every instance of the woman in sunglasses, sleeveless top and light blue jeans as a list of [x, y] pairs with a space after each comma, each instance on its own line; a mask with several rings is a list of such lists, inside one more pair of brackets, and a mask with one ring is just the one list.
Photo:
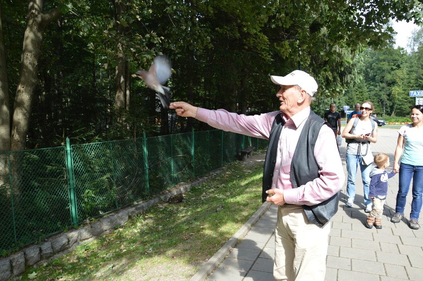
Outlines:
[[357, 175], [358, 165], [360, 165], [364, 190], [365, 212], [370, 212], [372, 209], [371, 199], [369, 198], [369, 174], [371, 171], [371, 163], [373, 162], [370, 143], [375, 143], [377, 141], [377, 125], [372, 124], [374, 121], [369, 118], [373, 113], [373, 109], [374, 107], [371, 101], [363, 102], [360, 107], [361, 115], [352, 118], [342, 132], [342, 137], [347, 139], [348, 142], [347, 156], [345, 158], [348, 173], [348, 200], [345, 206], [352, 207], [352, 204], [354, 203], [355, 177]]

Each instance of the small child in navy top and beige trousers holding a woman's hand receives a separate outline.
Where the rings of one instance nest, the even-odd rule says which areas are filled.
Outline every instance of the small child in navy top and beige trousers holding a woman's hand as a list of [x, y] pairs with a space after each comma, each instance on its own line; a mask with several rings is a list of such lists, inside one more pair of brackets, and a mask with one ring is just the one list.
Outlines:
[[388, 173], [385, 169], [389, 167], [389, 156], [385, 153], [377, 153], [373, 158], [377, 167], [370, 172], [369, 197], [373, 202], [373, 208], [367, 216], [366, 227], [377, 229], [382, 228], [382, 212], [388, 194], [388, 179], [395, 176], [395, 172]]

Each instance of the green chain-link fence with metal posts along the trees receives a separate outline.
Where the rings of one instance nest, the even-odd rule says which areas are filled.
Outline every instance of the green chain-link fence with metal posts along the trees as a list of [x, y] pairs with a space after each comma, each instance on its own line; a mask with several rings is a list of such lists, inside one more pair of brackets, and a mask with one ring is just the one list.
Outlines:
[[212, 130], [0, 153], [0, 251], [145, 200], [268, 141]]

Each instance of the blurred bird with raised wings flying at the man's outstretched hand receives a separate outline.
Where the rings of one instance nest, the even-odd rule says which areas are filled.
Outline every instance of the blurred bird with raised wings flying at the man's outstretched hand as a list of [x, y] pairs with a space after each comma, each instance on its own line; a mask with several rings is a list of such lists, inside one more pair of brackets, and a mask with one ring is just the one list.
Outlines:
[[172, 74], [170, 61], [167, 56], [161, 55], [154, 58], [148, 71], [138, 70], [134, 75], [144, 80], [148, 87], [157, 91], [163, 108], [168, 109], [172, 92], [163, 84], [169, 80], [170, 74]]

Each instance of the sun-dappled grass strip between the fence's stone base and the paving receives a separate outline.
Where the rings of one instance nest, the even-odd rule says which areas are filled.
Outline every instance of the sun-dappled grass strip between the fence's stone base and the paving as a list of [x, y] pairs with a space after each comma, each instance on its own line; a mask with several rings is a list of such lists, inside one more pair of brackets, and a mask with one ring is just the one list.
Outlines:
[[189, 280], [261, 206], [263, 162], [233, 162], [192, 187], [182, 203], [160, 203], [21, 280]]

